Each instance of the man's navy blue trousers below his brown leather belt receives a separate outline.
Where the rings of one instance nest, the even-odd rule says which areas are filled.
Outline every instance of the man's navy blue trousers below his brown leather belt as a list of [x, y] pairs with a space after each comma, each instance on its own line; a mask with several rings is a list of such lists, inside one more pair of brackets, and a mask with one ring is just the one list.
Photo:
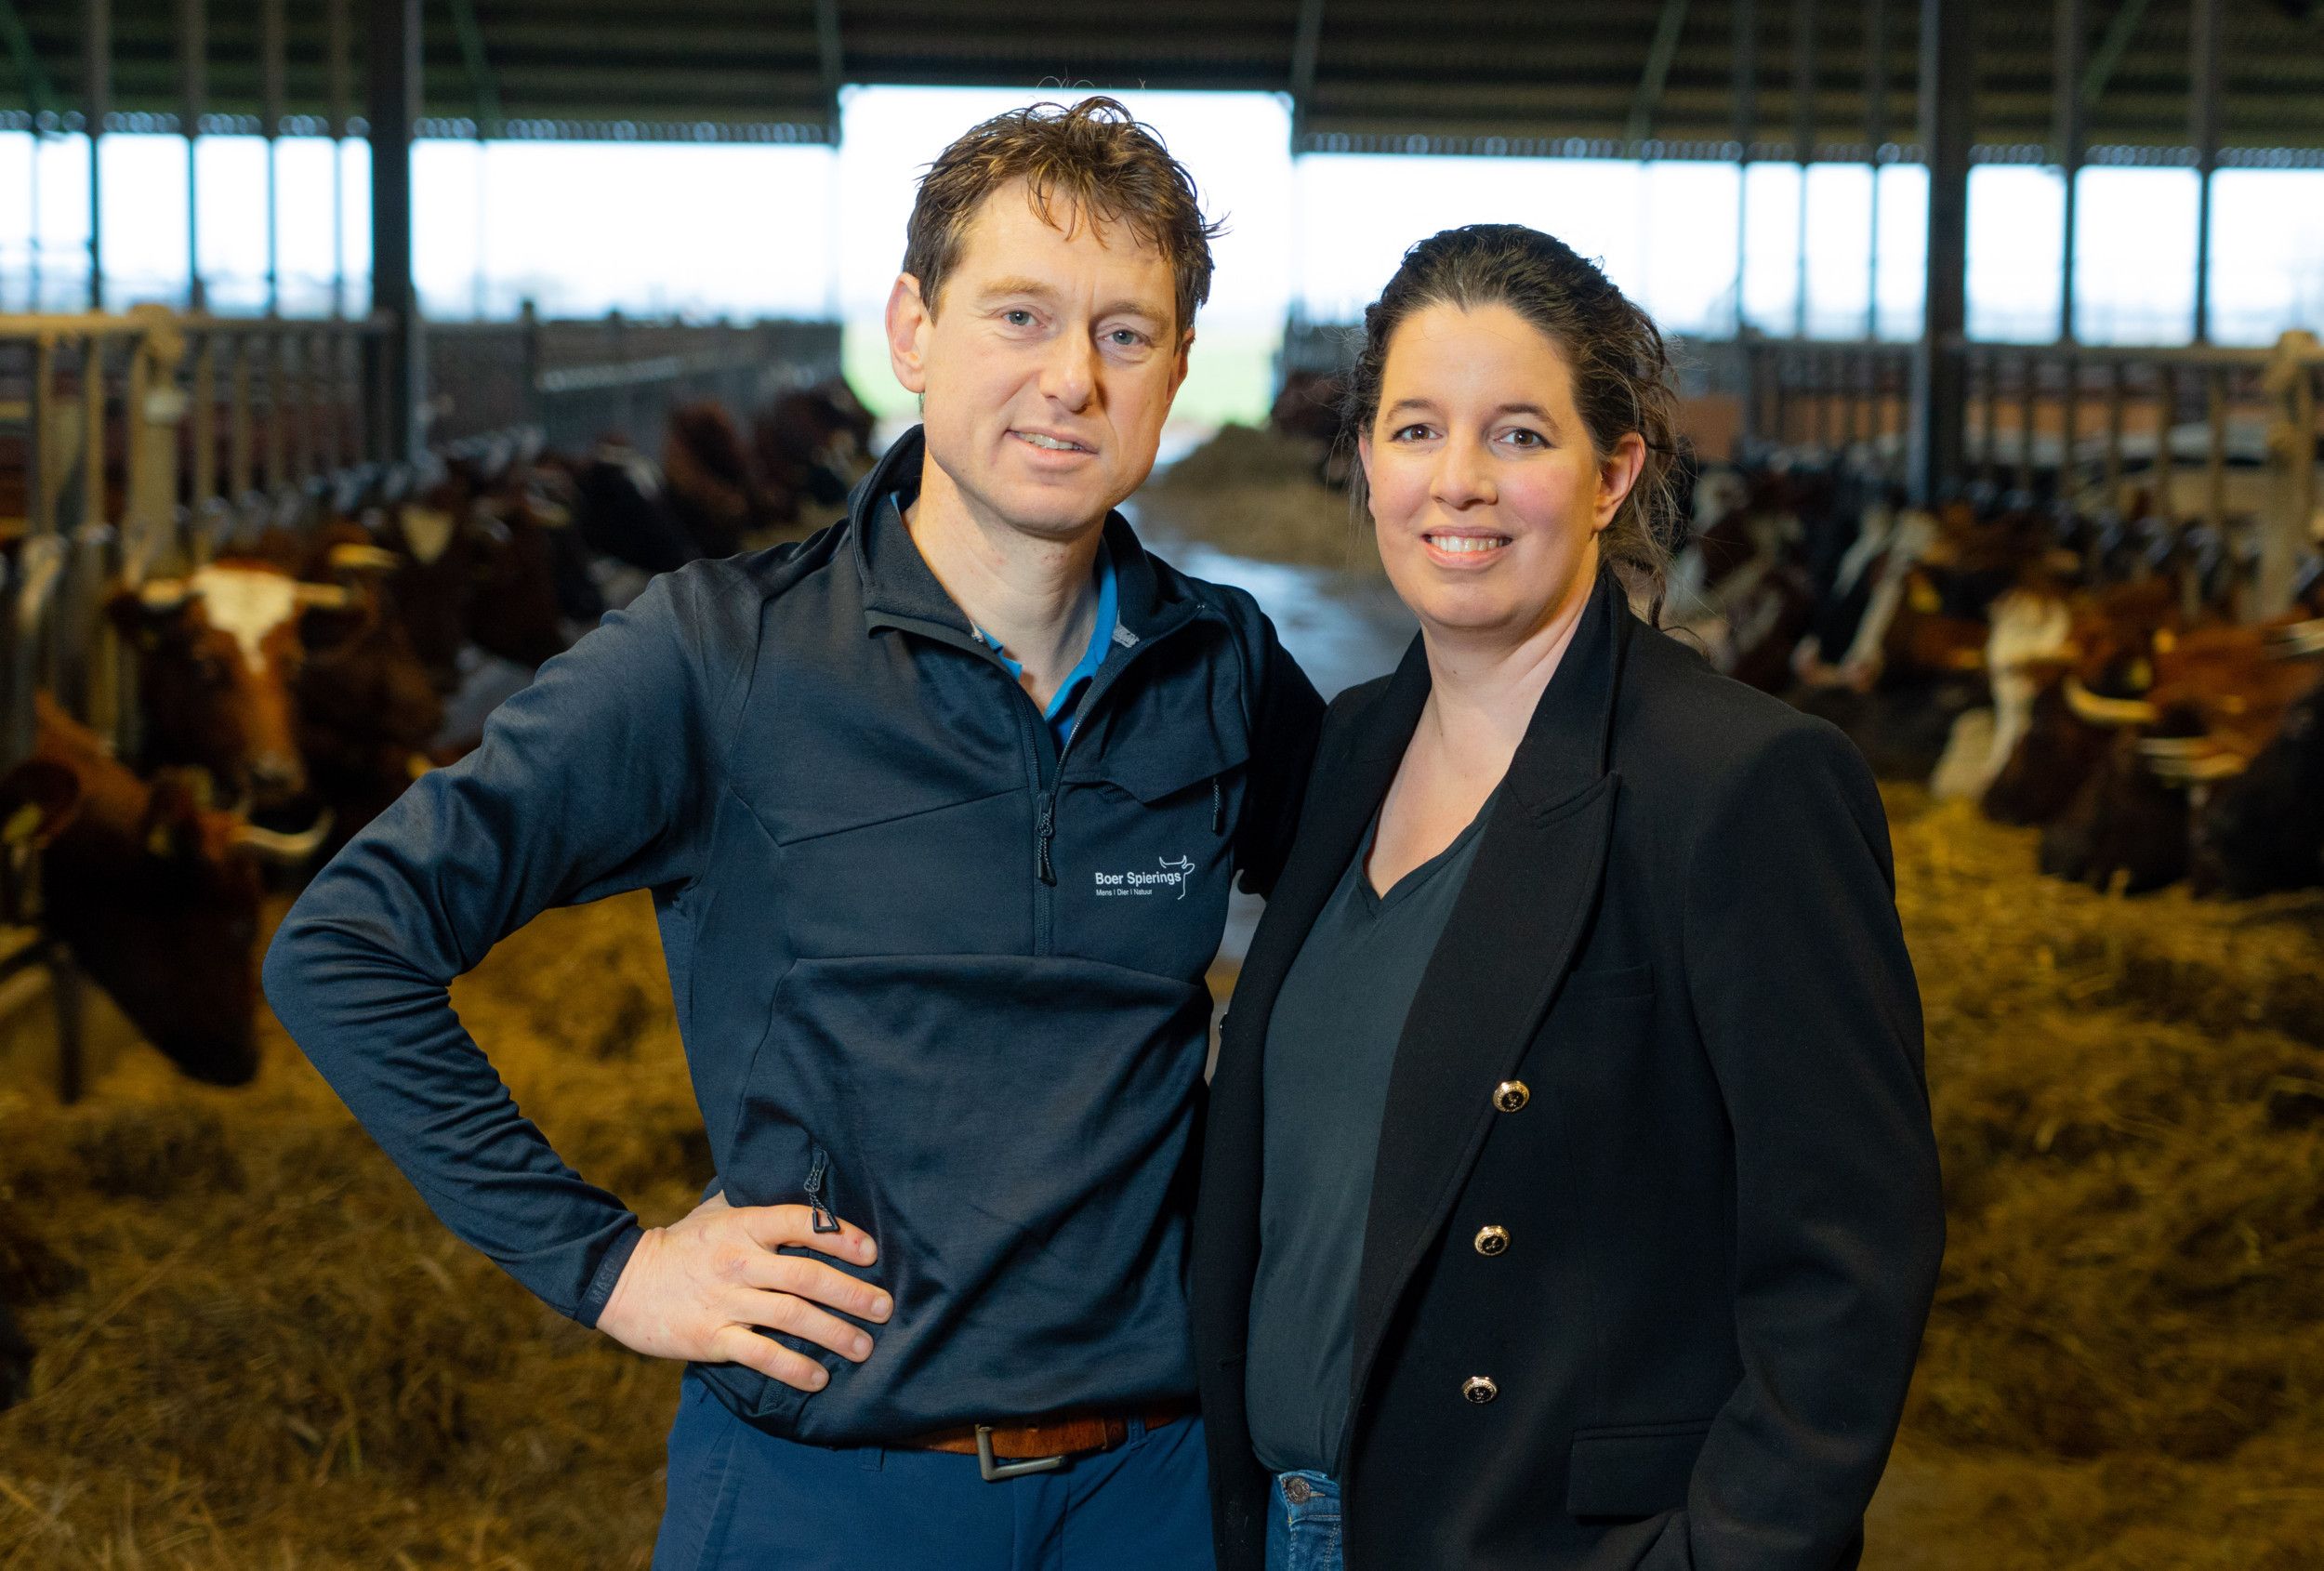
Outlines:
[[985, 1483], [976, 1457], [802, 1446], [686, 1373], [653, 1571], [1213, 1571], [1202, 1420]]

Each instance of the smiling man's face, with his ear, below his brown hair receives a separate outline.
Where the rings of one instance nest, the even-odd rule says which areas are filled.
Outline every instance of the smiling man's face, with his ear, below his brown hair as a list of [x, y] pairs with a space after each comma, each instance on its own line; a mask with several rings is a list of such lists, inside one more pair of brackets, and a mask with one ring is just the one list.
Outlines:
[[1185, 381], [1169, 260], [1025, 181], [985, 198], [930, 314], [904, 274], [888, 358], [923, 395], [927, 455], [985, 521], [1067, 539], [1146, 483]]

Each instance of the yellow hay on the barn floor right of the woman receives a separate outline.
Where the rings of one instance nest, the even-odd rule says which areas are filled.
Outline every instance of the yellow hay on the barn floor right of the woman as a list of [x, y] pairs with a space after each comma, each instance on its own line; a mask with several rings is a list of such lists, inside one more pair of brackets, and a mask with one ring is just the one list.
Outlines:
[[2315, 1564], [2324, 899], [2110, 899], [1889, 809], [1950, 1241], [1875, 1529], [1957, 1555], [1899, 1566]]

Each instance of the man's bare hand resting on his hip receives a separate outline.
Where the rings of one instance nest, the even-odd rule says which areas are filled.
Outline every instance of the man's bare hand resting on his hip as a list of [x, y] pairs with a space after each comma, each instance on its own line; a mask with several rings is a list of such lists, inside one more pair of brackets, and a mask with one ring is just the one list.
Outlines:
[[720, 1190], [686, 1220], [653, 1227], [637, 1241], [597, 1315], [597, 1329], [651, 1357], [748, 1364], [802, 1392], [823, 1390], [830, 1383], [823, 1364], [760, 1336], [758, 1327], [790, 1332], [860, 1364], [871, 1357], [871, 1339], [816, 1306], [881, 1325], [895, 1304], [871, 1283], [820, 1260], [776, 1255], [783, 1243], [804, 1243], [860, 1267], [878, 1257], [871, 1236], [851, 1222], [818, 1234], [806, 1206], [737, 1208]]

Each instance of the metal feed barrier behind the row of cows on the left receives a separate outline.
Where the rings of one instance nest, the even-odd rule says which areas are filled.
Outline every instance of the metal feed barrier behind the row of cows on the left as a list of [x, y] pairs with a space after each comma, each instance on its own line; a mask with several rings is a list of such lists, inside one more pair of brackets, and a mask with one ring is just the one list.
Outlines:
[[[202, 565], [267, 528], [409, 495], [442, 458], [646, 439], [686, 400], [737, 411], [839, 372], [827, 323], [539, 321], [425, 335], [432, 453], [397, 451], [379, 383], [386, 318], [0, 316], [0, 772], [30, 758], [46, 690], [137, 751], [119, 588]], [[26, 818], [19, 813], [19, 818]], [[46, 962], [58, 1090], [79, 1095], [70, 960], [40, 932], [33, 823], [0, 825], [0, 990]]]

